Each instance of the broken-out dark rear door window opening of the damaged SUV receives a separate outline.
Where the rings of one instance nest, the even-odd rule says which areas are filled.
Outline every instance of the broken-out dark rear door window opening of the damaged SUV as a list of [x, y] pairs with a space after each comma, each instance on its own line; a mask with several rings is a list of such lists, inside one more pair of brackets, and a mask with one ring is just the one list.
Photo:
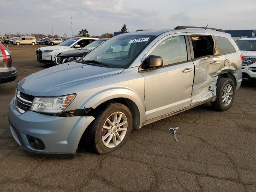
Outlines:
[[214, 42], [211, 36], [190, 36], [194, 51], [194, 58], [214, 55]]

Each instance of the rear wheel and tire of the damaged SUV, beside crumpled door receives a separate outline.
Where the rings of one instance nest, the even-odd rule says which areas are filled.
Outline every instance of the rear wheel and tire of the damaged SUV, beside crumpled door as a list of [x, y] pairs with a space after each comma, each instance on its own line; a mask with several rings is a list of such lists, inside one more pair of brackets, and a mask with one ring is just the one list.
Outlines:
[[212, 107], [218, 111], [228, 110], [235, 98], [235, 85], [229, 78], [220, 78], [216, 84], [217, 98], [212, 102]]

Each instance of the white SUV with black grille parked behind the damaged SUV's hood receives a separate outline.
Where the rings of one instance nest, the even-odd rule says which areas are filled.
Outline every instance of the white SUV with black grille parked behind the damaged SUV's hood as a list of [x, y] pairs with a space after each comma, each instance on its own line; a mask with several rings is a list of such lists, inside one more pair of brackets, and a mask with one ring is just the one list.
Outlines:
[[55, 46], [40, 47], [36, 50], [37, 61], [46, 65], [54, 64], [55, 57], [62, 52], [73, 49], [82, 49], [95, 40], [98, 40], [98, 38], [75, 37]]

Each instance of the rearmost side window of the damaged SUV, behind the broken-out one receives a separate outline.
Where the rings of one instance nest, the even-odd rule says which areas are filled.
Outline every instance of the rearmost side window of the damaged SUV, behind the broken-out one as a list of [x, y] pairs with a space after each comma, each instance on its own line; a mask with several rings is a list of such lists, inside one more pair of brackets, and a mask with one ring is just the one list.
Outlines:
[[214, 36], [214, 40], [218, 48], [218, 51], [216, 50], [215, 54], [227, 54], [236, 51], [234, 46], [227, 38]]

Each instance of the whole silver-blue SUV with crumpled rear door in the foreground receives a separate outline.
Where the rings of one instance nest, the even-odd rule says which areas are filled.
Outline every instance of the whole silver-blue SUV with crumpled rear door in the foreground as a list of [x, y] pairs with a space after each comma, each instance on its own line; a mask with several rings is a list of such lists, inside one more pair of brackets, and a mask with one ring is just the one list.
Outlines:
[[10, 129], [29, 152], [74, 156], [80, 144], [106, 154], [132, 130], [206, 102], [228, 110], [242, 81], [242, 59], [220, 29], [121, 34], [76, 62], [20, 81]]

